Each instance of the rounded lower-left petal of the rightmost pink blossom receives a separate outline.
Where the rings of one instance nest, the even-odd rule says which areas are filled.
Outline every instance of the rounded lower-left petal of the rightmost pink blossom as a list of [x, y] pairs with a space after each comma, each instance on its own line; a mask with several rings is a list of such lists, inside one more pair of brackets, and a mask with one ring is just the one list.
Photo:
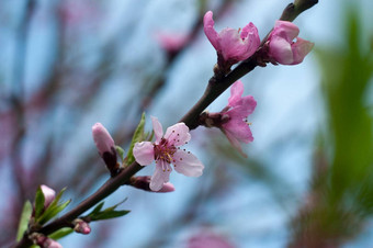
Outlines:
[[293, 63], [292, 46], [285, 38], [278, 36], [271, 38], [270, 55], [282, 65], [291, 65]]

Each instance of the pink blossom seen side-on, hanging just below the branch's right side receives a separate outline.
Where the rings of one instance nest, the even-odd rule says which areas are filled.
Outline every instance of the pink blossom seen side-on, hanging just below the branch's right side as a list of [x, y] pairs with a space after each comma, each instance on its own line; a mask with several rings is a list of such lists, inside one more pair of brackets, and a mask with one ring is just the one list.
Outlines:
[[223, 124], [221, 129], [230, 144], [244, 155], [240, 142], [247, 144], [253, 140], [246, 119], [256, 109], [257, 101], [252, 95], [241, 97], [242, 93], [244, 83], [238, 80], [230, 87], [228, 105], [222, 113]]

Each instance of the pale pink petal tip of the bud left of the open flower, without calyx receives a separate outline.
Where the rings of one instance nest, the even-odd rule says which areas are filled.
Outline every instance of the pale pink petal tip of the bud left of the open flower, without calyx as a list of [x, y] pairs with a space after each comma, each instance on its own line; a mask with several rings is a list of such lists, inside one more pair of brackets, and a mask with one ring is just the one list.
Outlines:
[[92, 136], [101, 156], [104, 153], [112, 153], [112, 148], [115, 146], [114, 140], [101, 123], [95, 123], [92, 126]]

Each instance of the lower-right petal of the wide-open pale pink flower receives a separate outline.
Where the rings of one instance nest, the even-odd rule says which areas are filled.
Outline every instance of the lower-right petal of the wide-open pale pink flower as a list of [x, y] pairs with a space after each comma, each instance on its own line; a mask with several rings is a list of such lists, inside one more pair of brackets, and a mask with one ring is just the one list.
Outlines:
[[204, 166], [202, 162], [191, 153], [184, 150], [177, 150], [172, 156], [174, 161], [174, 170], [187, 177], [200, 177], [203, 173]]

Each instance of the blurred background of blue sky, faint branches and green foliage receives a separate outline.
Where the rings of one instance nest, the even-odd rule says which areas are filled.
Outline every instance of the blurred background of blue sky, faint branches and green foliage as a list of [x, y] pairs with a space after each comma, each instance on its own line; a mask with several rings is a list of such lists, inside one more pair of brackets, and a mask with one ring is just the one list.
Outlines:
[[[128, 148], [140, 113], [174, 124], [202, 95], [215, 27], [253, 22], [261, 37], [287, 1], [0, 1], [0, 247], [14, 241], [38, 184], [74, 205], [108, 178], [91, 126]], [[218, 129], [192, 132], [201, 178], [171, 173], [176, 192], [123, 187], [105, 200], [132, 212], [92, 223], [64, 247], [373, 246], [373, 2], [320, 1], [301, 14], [315, 43], [297, 66], [242, 78], [258, 102], [240, 157]], [[208, 111], [227, 104], [225, 92]], [[151, 174], [146, 168], [139, 174]]]

